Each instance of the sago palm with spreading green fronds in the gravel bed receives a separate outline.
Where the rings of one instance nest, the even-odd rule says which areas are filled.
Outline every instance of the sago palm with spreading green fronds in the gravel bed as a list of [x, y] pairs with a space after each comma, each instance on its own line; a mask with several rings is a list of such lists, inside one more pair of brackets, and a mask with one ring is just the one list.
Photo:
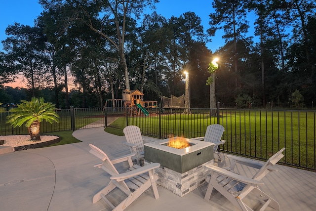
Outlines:
[[13, 127], [21, 127], [25, 123], [28, 128], [31, 140], [40, 140], [40, 123], [46, 121], [50, 124], [58, 123], [58, 114], [55, 112], [55, 105], [45, 103], [44, 98], [32, 97], [31, 101], [21, 100], [16, 108], [10, 110], [7, 123]]

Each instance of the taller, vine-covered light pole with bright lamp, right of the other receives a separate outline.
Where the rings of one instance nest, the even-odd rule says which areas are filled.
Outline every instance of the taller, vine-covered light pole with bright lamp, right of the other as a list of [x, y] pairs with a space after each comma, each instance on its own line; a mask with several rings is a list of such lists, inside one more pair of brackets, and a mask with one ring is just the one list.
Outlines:
[[209, 85], [209, 109], [210, 116], [216, 115], [216, 97], [215, 97], [215, 80], [216, 80], [216, 70], [218, 69], [218, 64], [216, 63], [218, 58], [214, 58], [213, 61], [208, 65], [208, 71], [210, 77], [207, 79], [207, 85]]

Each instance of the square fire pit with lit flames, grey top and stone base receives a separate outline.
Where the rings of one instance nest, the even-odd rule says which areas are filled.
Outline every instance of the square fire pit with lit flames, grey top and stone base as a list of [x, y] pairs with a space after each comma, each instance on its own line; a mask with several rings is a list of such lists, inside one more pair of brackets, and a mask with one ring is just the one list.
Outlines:
[[[173, 148], [173, 141], [187, 145]], [[181, 197], [203, 184], [210, 173], [205, 165], [213, 163], [213, 143], [174, 137], [144, 145], [145, 162], [160, 163], [158, 184]]]

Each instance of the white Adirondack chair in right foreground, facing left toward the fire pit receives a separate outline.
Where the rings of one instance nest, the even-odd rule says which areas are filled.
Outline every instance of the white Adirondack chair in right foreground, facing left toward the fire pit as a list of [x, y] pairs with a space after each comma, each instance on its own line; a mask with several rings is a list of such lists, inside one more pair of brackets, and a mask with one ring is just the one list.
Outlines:
[[[269, 172], [275, 170], [273, 166], [284, 157], [282, 152], [285, 148], [282, 148], [275, 155], [273, 155], [265, 164], [255, 162], [252, 159], [241, 158], [237, 156], [228, 156], [232, 160], [230, 168], [222, 169], [214, 165], [206, 165], [211, 169], [211, 176], [206, 180], [209, 183], [204, 199], [209, 200], [215, 188], [229, 201], [231, 201], [238, 209], [242, 211], [253, 211], [249, 205], [246, 205], [243, 199], [249, 194], [252, 197], [256, 196], [260, 202], [260, 211], [265, 210], [267, 207], [271, 207], [277, 211], [280, 210], [279, 204], [271, 198], [269, 195], [261, 191], [258, 185], [264, 184], [260, 180]], [[248, 178], [239, 175], [234, 172], [236, 163], [250, 166], [259, 169], [252, 178]]]

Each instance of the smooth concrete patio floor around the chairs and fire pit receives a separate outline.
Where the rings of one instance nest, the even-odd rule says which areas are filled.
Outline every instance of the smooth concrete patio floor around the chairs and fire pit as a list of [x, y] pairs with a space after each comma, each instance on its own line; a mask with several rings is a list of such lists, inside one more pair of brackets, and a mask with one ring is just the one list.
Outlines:
[[[103, 201], [92, 204], [93, 195], [110, 179], [105, 171], [93, 167], [100, 162], [89, 153], [89, 144], [115, 158], [129, 153], [122, 144], [125, 138], [106, 133], [103, 127], [79, 129], [73, 135], [82, 142], [0, 155], [0, 211], [110, 211]], [[229, 165], [228, 159], [226, 162]], [[125, 167], [127, 164], [118, 169]], [[237, 169], [245, 175], [254, 172], [241, 166]], [[314, 211], [316, 172], [280, 165], [276, 169], [278, 172], [262, 180], [262, 190], [276, 199], [282, 211]], [[213, 191], [210, 201], [205, 201], [206, 188], [204, 184], [179, 197], [158, 186], [158, 200], [149, 189], [126, 211], [236, 210], [217, 191]]]

